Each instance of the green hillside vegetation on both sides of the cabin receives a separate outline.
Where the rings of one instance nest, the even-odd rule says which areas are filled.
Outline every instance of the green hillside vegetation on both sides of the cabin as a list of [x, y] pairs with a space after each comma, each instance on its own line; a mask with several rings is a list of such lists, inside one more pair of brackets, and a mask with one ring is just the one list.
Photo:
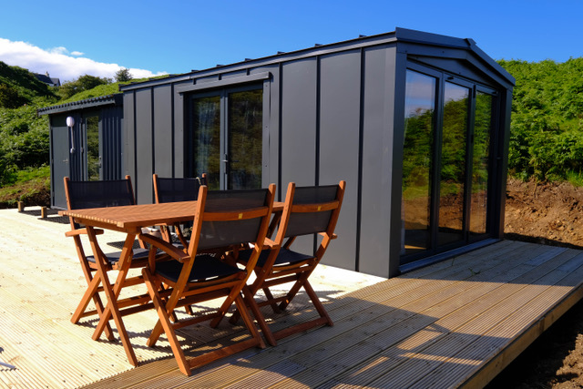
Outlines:
[[[517, 80], [512, 100], [508, 169], [519, 179], [583, 185], [583, 57], [564, 63], [500, 60]], [[17, 169], [49, 162], [48, 122], [36, 109], [118, 92], [131, 80], [85, 75], [48, 87], [21, 67], [0, 62], [0, 187]]]

